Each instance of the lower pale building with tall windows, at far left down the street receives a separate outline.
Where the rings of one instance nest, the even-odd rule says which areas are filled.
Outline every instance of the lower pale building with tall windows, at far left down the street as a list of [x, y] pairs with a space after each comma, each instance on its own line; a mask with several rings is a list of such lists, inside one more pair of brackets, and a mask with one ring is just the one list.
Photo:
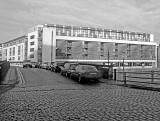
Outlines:
[[10, 62], [27, 60], [27, 36], [21, 36], [3, 43], [2, 60]]

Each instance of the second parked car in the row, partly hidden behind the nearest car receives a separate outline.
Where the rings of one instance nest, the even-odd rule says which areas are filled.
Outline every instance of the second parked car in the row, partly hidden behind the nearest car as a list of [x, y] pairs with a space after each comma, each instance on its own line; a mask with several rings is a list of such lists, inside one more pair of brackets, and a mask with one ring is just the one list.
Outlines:
[[69, 73], [69, 70], [73, 70], [76, 65], [77, 63], [65, 63], [64, 67], [61, 68], [61, 75], [67, 76], [67, 72]]

